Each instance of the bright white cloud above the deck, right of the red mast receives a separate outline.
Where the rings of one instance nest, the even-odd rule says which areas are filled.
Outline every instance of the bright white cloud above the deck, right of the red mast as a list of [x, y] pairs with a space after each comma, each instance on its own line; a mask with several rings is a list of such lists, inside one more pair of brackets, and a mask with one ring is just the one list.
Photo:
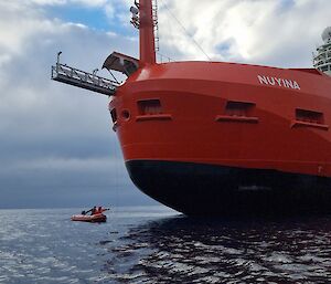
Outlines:
[[206, 60], [174, 15], [214, 60], [311, 66], [311, 52], [330, 25], [330, 10], [324, 0], [161, 0], [161, 53]]

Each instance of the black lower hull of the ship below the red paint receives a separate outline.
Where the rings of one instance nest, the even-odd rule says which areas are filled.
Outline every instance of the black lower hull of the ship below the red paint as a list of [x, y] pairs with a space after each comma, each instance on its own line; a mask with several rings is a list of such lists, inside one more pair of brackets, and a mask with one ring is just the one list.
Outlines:
[[188, 215], [331, 212], [331, 178], [157, 160], [126, 166], [141, 191]]

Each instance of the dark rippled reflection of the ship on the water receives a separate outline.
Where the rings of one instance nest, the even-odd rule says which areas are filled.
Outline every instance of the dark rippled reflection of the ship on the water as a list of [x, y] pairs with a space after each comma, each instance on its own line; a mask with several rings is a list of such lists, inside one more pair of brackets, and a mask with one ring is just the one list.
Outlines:
[[105, 243], [111, 283], [327, 283], [331, 219], [220, 222], [174, 217]]

